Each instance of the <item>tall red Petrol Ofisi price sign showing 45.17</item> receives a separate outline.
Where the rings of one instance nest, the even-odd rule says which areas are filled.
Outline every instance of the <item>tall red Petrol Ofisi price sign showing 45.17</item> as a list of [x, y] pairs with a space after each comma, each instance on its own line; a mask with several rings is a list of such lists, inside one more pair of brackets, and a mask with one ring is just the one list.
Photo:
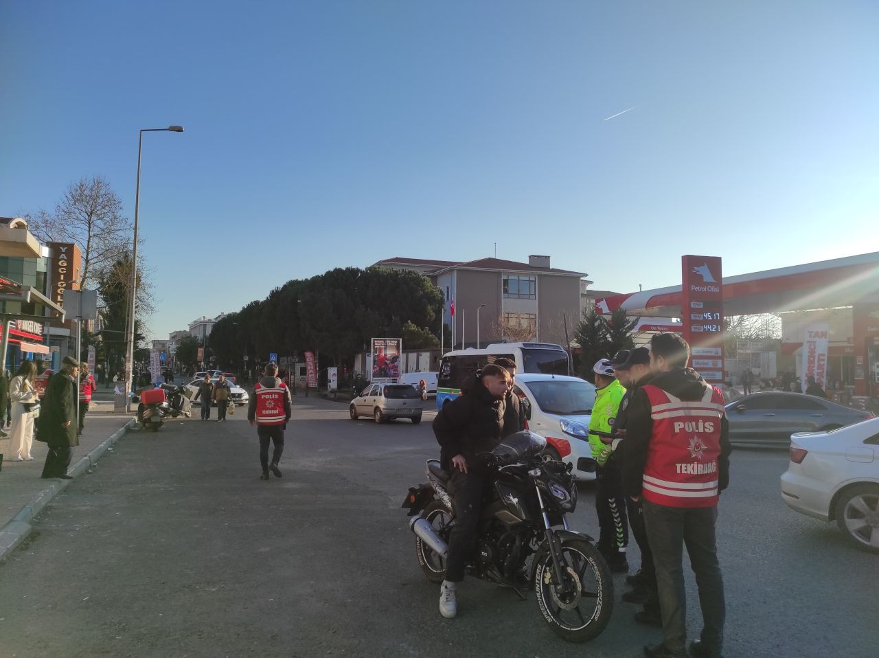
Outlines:
[[690, 344], [691, 366], [709, 384], [725, 380], [723, 267], [719, 256], [681, 257], [680, 322]]

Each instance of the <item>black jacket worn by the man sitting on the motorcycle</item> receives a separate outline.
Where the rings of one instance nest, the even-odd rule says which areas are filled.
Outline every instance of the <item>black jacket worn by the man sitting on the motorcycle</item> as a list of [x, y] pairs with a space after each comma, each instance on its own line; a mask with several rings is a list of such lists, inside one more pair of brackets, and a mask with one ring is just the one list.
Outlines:
[[448, 471], [452, 457], [463, 455], [470, 468], [476, 455], [494, 450], [504, 433], [505, 411], [504, 399], [492, 398], [482, 382], [444, 406], [433, 420], [442, 467]]

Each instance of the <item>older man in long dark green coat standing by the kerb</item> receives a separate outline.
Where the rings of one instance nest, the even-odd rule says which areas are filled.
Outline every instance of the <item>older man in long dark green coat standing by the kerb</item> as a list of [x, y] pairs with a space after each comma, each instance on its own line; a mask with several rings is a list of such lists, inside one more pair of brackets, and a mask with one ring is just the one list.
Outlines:
[[76, 430], [76, 377], [79, 363], [72, 356], [65, 356], [61, 372], [49, 379], [46, 394], [40, 405], [40, 424], [37, 439], [48, 446], [43, 478], [72, 479], [67, 474], [74, 446], [79, 445]]

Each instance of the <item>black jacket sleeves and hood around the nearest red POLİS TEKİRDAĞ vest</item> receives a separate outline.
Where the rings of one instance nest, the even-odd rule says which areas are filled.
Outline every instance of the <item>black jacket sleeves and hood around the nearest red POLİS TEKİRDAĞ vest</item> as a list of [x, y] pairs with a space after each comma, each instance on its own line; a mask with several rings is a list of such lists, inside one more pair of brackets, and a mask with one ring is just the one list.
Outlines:
[[[645, 382], [646, 384], [646, 382]], [[685, 401], [700, 400], [705, 394], [708, 384], [694, 369], [674, 369], [659, 373], [649, 384], [658, 386], [676, 398]], [[641, 495], [644, 464], [647, 462], [647, 450], [650, 446], [650, 435], [653, 432], [653, 420], [650, 418], [650, 398], [643, 390], [643, 384], [632, 395], [626, 409], [626, 438], [624, 459], [622, 460], [622, 482], [629, 496]], [[720, 421], [720, 455], [717, 457], [718, 490], [723, 491], [730, 484], [730, 423], [726, 414]]]

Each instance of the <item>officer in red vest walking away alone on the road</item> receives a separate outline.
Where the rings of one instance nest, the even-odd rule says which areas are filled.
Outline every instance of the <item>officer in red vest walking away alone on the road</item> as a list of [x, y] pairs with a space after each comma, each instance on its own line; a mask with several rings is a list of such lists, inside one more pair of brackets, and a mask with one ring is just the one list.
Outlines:
[[[278, 365], [269, 363], [265, 366], [265, 377], [253, 387], [253, 397], [247, 406], [247, 420], [251, 425], [256, 423], [259, 436], [259, 464], [263, 474], [259, 479], [269, 479], [269, 469], [276, 478], [281, 477], [280, 455], [284, 451], [284, 430], [287, 420], [293, 413], [293, 400], [290, 390], [278, 378]], [[269, 441], [274, 444], [272, 464], [269, 464]]]

